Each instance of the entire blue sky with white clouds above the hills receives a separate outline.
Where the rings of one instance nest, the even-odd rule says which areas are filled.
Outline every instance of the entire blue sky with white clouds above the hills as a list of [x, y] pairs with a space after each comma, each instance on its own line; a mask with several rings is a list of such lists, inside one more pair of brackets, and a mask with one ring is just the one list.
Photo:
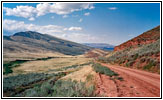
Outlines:
[[3, 3], [3, 34], [119, 45], [160, 25], [159, 3]]

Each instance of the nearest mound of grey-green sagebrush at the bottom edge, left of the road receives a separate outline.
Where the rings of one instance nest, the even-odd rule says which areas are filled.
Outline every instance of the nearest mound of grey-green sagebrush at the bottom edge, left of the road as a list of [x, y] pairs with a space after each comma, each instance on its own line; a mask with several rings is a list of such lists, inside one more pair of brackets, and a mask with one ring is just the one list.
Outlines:
[[23, 93], [16, 96], [25, 97], [93, 97], [95, 87], [86, 87], [84, 82], [72, 80], [53, 80], [44, 82], [42, 85], [27, 89]]

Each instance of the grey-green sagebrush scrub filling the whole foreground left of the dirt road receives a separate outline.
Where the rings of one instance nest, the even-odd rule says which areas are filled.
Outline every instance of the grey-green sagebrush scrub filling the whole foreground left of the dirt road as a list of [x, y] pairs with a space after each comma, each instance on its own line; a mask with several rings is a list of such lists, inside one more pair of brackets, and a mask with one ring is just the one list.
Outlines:
[[[90, 63], [80, 64], [80, 67]], [[76, 65], [65, 67], [77, 68]], [[62, 69], [63, 70], [63, 69]], [[88, 82], [76, 81], [71, 79], [61, 79], [67, 72], [53, 74], [28, 73], [9, 76], [3, 78], [4, 96], [11, 97], [95, 97], [95, 85], [88, 82], [92, 81], [93, 76], [88, 75]]]

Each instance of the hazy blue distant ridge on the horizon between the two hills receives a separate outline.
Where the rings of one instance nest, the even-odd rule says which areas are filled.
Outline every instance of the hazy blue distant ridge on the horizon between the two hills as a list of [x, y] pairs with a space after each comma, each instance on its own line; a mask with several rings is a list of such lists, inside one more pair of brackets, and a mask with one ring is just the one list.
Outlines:
[[98, 48], [102, 50], [114, 50], [114, 46], [107, 43], [83, 43], [86, 46]]

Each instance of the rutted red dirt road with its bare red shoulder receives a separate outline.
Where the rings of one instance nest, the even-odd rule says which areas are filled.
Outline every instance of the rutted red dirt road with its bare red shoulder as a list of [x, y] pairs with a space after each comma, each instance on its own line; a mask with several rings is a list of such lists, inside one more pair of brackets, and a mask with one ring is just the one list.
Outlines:
[[[123, 81], [118, 79], [110, 80], [110, 78], [105, 75], [99, 75], [99, 78], [101, 78], [101, 81], [99, 79], [97, 80], [97, 91], [99, 94], [102, 92], [102, 94], [109, 97], [160, 97], [159, 74], [117, 65], [102, 65], [107, 66], [114, 72], [118, 73], [118, 77], [122, 77]], [[114, 93], [111, 93], [111, 91], [114, 91]]]

